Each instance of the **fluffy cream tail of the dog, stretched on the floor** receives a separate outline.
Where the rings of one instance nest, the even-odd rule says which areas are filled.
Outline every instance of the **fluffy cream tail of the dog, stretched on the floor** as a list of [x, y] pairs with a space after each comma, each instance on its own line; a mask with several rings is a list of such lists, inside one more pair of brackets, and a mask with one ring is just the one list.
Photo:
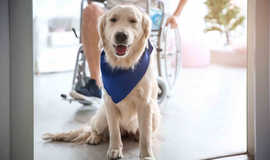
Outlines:
[[53, 140], [53, 141], [69, 141], [75, 144], [87, 143], [90, 140], [91, 132], [89, 127], [83, 127], [77, 130], [71, 130], [68, 132], [61, 133], [45, 133], [42, 135], [43, 140]]

